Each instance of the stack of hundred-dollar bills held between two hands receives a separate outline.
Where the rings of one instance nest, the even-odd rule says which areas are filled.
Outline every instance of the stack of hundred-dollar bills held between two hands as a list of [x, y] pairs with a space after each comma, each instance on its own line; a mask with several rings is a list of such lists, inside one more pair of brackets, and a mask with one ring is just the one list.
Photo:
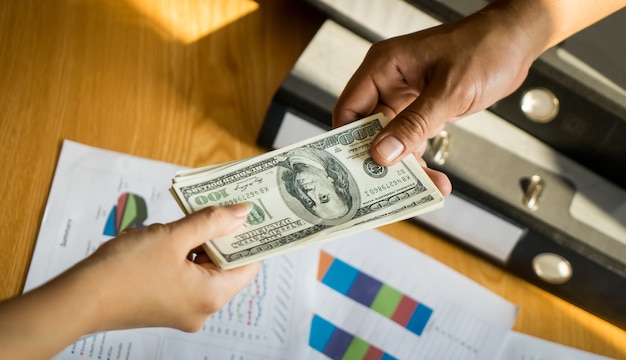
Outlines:
[[302, 246], [408, 219], [443, 205], [413, 156], [375, 163], [376, 114], [263, 155], [179, 172], [171, 193], [186, 214], [251, 202], [245, 225], [204, 248], [230, 269]]

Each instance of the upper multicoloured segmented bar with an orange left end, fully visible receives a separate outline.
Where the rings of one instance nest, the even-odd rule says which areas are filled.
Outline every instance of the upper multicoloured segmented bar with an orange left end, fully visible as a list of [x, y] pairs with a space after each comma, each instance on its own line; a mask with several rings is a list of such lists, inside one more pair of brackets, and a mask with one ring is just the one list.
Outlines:
[[428, 306], [324, 251], [320, 252], [317, 279], [418, 336], [433, 313]]

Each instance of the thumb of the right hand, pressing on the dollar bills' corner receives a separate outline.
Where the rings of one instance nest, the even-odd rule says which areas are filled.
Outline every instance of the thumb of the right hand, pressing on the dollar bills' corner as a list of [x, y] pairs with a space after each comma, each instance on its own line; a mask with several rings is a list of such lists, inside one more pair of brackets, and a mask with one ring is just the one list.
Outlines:
[[447, 120], [455, 117], [449, 104], [439, 99], [425, 90], [396, 115], [372, 142], [374, 160], [382, 166], [393, 165], [435, 136]]

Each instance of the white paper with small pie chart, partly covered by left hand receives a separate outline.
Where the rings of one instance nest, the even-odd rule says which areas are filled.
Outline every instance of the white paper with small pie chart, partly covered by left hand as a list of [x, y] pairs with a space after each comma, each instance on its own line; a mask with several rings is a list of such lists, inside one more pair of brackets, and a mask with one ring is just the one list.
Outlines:
[[[63, 144], [25, 291], [128, 227], [183, 216], [169, 194], [182, 167]], [[109, 331], [79, 339], [56, 359], [287, 359], [307, 350], [315, 257], [303, 252], [262, 263], [257, 277], [202, 330]], [[68, 321], [71, 321], [69, 319]], [[62, 324], [60, 324], [62, 326]], [[301, 358], [301, 356], [300, 356]]]

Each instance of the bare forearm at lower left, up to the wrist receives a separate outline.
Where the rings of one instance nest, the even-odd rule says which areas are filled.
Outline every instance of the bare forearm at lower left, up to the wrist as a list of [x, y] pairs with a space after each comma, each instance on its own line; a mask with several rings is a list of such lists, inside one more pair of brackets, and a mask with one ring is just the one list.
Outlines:
[[51, 358], [95, 329], [100, 314], [89, 271], [70, 271], [0, 303], [0, 359]]

